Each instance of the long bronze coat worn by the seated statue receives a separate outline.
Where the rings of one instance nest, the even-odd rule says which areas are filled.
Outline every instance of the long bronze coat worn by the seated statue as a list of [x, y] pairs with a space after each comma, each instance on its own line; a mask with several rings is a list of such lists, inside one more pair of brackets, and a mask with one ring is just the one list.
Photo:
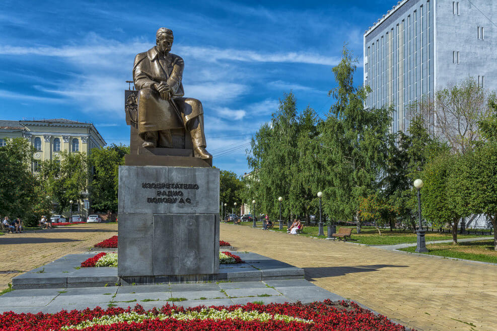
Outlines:
[[[139, 91], [138, 133], [184, 128], [188, 121], [203, 113], [198, 101], [200, 106], [192, 107], [189, 101], [193, 99], [183, 97], [183, 68], [184, 61], [180, 56], [172, 53], [163, 56], [156, 47], [136, 55], [133, 81]], [[163, 100], [152, 88], [161, 81], [166, 81], [173, 92], [170, 101]]]

